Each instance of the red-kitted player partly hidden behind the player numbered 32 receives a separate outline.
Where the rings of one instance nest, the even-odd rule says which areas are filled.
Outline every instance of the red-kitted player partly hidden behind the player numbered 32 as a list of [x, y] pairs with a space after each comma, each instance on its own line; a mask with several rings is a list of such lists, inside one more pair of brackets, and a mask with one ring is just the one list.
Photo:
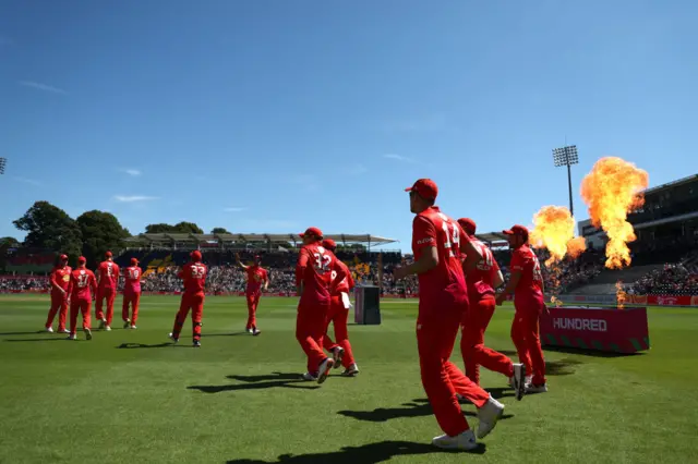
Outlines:
[[[337, 244], [332, 239], [323, 240], [323, 247], [335, 253]], [[349, 302], [349, 292], [353, 289], [353, 279], [347, 265], [337, 260], [338, 266], [342, 267], [347, 277], [342, 279], [337, 285], [337, 289], [329, 295], [329, 314], [327, 315], [327, 327], [325, 328], [325, 337], [323, 338], [323, 347], [333, 353], [333, 361], [335, 368], [344, 366], [345, 370], [341, 373], [344, 377], [353, 377], [359, 374], [359, 366], [353, 358], [351, 351], [351, 343], [349, 343], [349, 333], [347, 331], [347, 319], [349, 318], [349, 308], [351, 303]], [[337, 276], [336, 271], [329, 272], [329, 282]], [[327, 334], [329, 329], [329, 322], [335, 326], [336, 343]]]

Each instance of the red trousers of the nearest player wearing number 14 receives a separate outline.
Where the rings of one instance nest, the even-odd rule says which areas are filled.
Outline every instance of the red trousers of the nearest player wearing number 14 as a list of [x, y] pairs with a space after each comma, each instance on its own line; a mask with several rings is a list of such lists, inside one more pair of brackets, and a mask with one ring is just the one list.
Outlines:
[[[421, 306], [421, 305], [420, 305]], [[417, 347], [426, 398], [442, 430], [455, 437], [469, 429], [456, 393], [482, 407], [490, 394], [473, 383], [449, 358], [458, 337], [464, 306], [422, 310], [417, 319]]]

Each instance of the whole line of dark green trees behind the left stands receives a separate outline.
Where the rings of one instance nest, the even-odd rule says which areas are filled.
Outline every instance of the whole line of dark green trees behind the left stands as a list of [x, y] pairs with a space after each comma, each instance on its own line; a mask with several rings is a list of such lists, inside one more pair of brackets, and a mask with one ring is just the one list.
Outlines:
[[[61, 208], [48, 202], [36, 202], [21, 218], [12, 221], [15, 228], [26, 232], [24, 242], [14, 237], [0, 239], [0, 257], [4, 258], [9, 248], [26, 247], [64, 253], [74, 266], [80, 255], [94, 267], [107, 251], [115, 255], [123, 249], [122, 240], [131, 236], [128, 229], [110, 212], [94, 209], [77, 218], [71, 218]], [[145, 233], [194, 233], [204, 231], [193, 222], [177, 224], [148, 224]], [[224, 228], [215, 228], [210, 233], [229, 233]]]

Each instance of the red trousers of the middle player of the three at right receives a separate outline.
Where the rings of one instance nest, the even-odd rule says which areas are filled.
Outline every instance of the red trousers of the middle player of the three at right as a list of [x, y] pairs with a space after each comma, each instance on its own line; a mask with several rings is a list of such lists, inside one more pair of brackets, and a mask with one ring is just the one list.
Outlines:
[[466, 376], [477, 384], [480, 384], [480, 366], [507, 377], [514, 375], [512, 359], [484, 345], [484, 331], [488, 330], [495, 307], [494, 298], [472, 303], [462, 321], [460, 353], [466, 364]]

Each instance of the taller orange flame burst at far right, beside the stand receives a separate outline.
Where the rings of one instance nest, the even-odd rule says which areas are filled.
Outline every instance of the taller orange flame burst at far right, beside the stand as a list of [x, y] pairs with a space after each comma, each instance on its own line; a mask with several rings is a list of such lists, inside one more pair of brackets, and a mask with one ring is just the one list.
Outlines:
[[630, 264], [627, 246], [637, 237], [626, 220], [628, 212], [645, 203], [641, 191], [649, 184], [649, 174], [621, 158], [601, 158], [581, 182], [581, 197], [589, 207], [595, 228], [609, 236], [606, 267], [619, 269]]

